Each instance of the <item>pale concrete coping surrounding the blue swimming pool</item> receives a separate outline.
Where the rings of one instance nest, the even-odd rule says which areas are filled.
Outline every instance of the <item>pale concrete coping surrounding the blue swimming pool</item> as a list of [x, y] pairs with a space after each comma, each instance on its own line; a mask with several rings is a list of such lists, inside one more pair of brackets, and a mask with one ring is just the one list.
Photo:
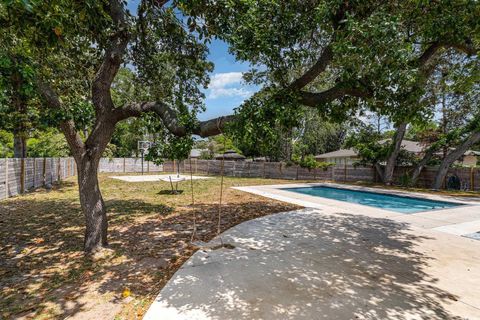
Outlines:
[[[290, 188], [305, 188], [317, 186], [335, 187], [355, 191], [367, 191], [378, 194], [426, 199], [432, 201], [452, 202], [463, 205], [452, 208], [440, 208], [415, 213], [400, 213], [362, 204], [316, 197], [312, 195], [294, 192], [291, 190], [285, 190]], [[403, 190], [371, 188], [329, 182], [288, 183], [232, 188], [267, 197], [270, 199], [296, 204], [302, 207], [323, 209], [329, 212], [342, 212], [348, 214], [366, 215], [374, 218], [392, 219], [398, 222], [409, 223], [415, 227], [419, 227], [422, 229], [433, 229], [454, 235], [464, 235], [480, 231], [480, 197], [478, 198], [478, 200], [459, 199], [458, 197], [453, 196], [435, 195]]]

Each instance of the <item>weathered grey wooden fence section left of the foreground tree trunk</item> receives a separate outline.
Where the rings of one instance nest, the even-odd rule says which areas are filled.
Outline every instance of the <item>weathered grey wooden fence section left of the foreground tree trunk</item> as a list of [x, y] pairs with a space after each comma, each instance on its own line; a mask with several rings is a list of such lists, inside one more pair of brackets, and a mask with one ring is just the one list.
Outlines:
[[73, 158], [0, 159], [0, 200], [76, 175]]

